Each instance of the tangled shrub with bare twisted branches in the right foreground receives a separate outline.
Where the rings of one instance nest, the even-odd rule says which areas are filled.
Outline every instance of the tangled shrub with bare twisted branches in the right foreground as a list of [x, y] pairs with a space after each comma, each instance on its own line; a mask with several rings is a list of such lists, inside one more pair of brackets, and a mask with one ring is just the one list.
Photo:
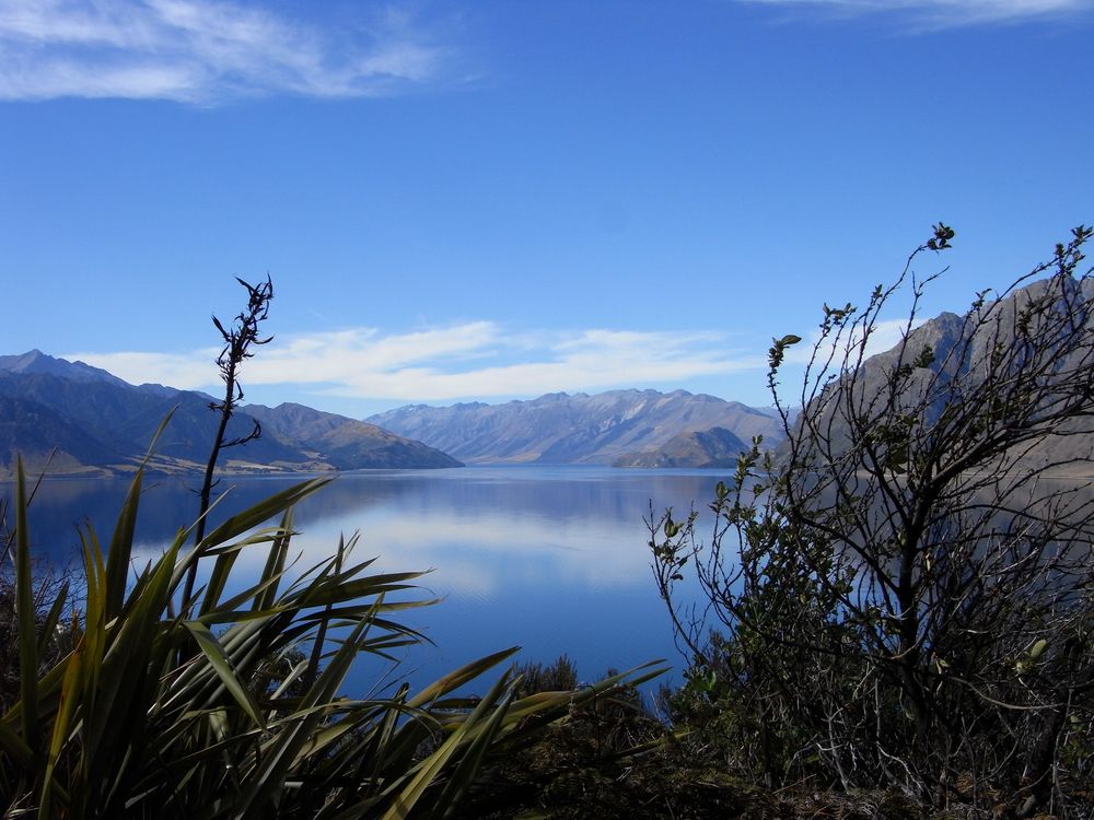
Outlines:
[[[965, 316], [918, 327], [912, 263], [862, 311], [825, 307], [787, 432], [695, 516], [651, 522], [693, 659], [668, 698], [697, 754], [749, 782], [891, 790], [924, 810], [1094, 808], [1091, 231]], [[1044, 279], [1045, 274], [1048, 279]], [[903, 341], [868, 358], [904, 285]], [[794, 408], [802, 408], [799, 413]], [[680, 584], [690, 576], [701, 606]], [[1085, 812], [1085, 813], [1084, 813]]]

